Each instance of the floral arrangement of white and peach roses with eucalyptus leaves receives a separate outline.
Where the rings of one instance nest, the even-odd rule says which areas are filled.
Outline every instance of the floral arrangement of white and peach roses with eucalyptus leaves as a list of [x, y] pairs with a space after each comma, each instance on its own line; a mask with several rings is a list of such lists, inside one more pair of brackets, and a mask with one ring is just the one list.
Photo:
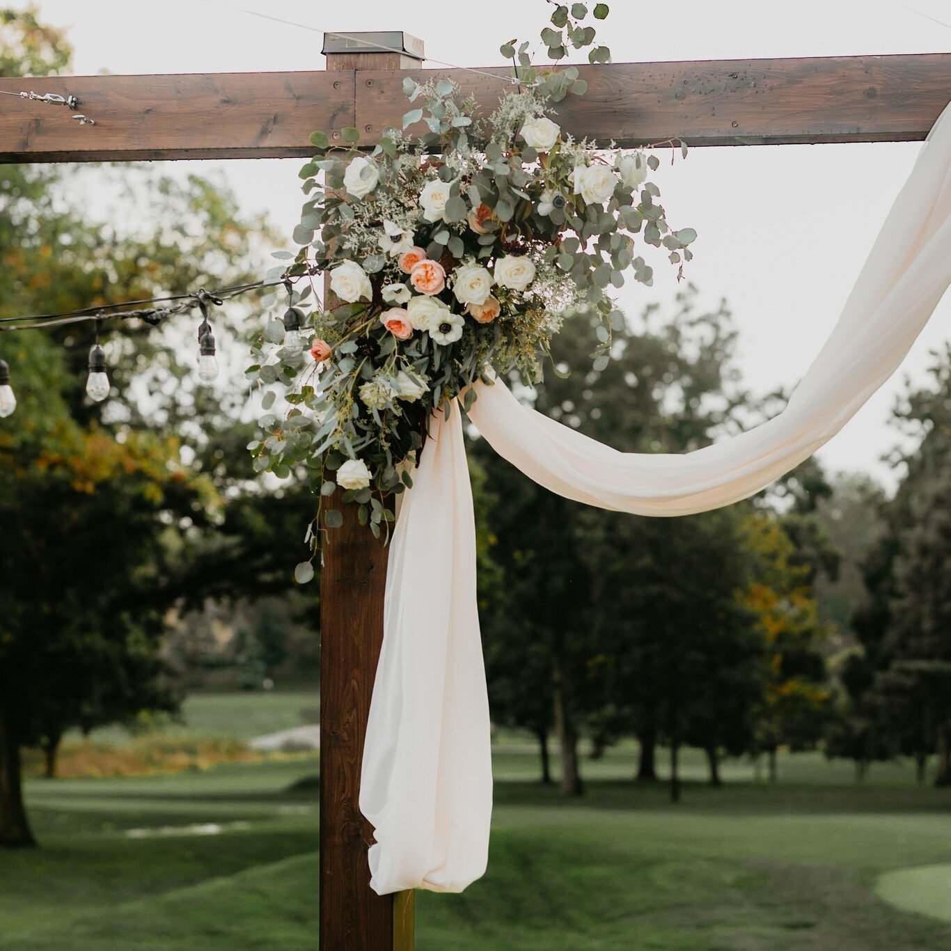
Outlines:
[[[583, 24], [584, 4], [553, 6], [541, 39], [555, 64], [569, 47], [610, 62]], [[605, 4], [593, 10], [595, 19], [607, 13]], [[690, 259], [695, 232], [671, 230], [656, 201], [656, 156], [566, 133], [557, 104], [587, 83], [574, 67], [533, 66], [528, 47], [502, 46], [513, 88], [490, 115], [446, 79], [406, 79], [402, 128], [386, 129], [369, 154], [355, 128], [340, 130], [340, 146], [311, 136], [317, 155], [301, 169], [308, 199], [294, 234], [301, 248], [278, 252], [271, 272], [310, 280], [302, 291], [288, 282], [283, 319], [268, 322], [247, 371], [283, 384], [290, 411], [273, 413], [270, 389], [264, 436], [250, 448], [258, 471], [311, 467], [321, 498], [339, 487], [378, 535], [394, 520], [394, 495], [412, 484], [431, 414], [448, 415], [457, 397], [468, 409], [471, 384], [490, 370], [526, 384], [540, 378], [553, 335], [579, 309], [602, 319], [592, 358], [603, 369], [624, 320], [610, 289], [629, 274], [651, 282], [638, 244], [666, 248], [679, 267]], [[422, 136], [406, 131], [420, 122]], [[304, 314], [323, 272], [331, 294]], [[312, 335], [311, 359], [301, 334]], [[328, 527], [341, 521], [340, 511], [324, 513]], [[318, 536], [308, 535], [315, 550]], [[299, 579], [312, 573], [304, 563]]]

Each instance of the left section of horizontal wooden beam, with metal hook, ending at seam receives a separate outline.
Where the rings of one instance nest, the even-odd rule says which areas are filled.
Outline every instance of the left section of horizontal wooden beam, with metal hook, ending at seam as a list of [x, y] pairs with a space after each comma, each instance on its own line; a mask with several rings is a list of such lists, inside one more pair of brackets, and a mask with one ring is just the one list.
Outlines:
[[0, 89], [79, 100], [70, 110], [0, 96], [0, 163], [307, 156], [311, 132], [356, 118], [352, 70], [5, 77]]

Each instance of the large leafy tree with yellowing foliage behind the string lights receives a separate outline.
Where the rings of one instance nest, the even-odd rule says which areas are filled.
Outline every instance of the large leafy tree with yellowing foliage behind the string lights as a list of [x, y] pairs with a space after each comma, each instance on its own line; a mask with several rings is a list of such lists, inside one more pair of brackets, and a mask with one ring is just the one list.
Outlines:
[[[68, 66], [62, 37], [32, 12], [0, 12], [0, 38], [5, 75]], [[125, 169], [116, 184], [141, 214], [120, 229], [76, 202], [71, 185], [82, 174], [0, 171], [2, 316], [253, 276], [262, 225], [242, 222], [219, 186]], [[240, 321], [216, 324], [220, 344], [243, 334]], [[0, 426], [0, 844], [32, 842], [22, 746], [43, 746], [52, 766], [68, 728], [173, 707], [160, 656], [168, 609], [209, 592], [286, 589], [299, 560], [275, 533], [282, 518], [300, 518], [305, 484], [285, 483], [278, 495], [291, 504], [267, 511], [278, 502], [243, 456], [253, 427], [234, 424], [245, 396], [196, 385], [194, 326], [128, 326], [107, 338], [118, 392], [105, 404], [85, 396], [91, 341], [77, 326], [60, 331], [64, 340], [0, 340], [21, 403]], [[180, 342], [187, 361], [176, 355]]]

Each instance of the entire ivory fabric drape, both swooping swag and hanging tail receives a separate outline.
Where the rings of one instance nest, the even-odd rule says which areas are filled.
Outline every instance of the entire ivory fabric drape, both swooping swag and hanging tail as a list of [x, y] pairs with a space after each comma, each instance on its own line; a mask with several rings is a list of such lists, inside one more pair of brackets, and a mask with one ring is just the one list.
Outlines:
[[[685, 515], [765, 488], [833, 437], [897, 369], [951, 283], [951, 106], [922, 147], [844, 311], [786, 408], [685, 455], [625, 454], [476, 384], [469, 417], [540, 485], [601, 508]], [[476, 534], [457, 407], [434, 417], [391, 541], [360, 808], [371, 886], [461, 891], [485, 870], [490, 724]]]

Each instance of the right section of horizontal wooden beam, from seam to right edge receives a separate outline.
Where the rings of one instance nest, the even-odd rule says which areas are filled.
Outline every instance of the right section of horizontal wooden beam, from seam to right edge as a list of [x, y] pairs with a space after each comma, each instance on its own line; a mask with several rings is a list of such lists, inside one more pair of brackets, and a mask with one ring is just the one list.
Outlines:
[[[488, 71], [498, 79], [461, 69], [439, 75], [491, 111], [510, 85], [508, 70]], [[579, 71], [588, 91], [557, 107], [559, 124], [575, 138], [619, 146], [670, 137], [690, 146], [916, 140], [951, 100], [951, 53], [617, 63]], [[357, 116], [367, 144], [407, 109], [401, 82], [385, 72], [357, 73]]]

